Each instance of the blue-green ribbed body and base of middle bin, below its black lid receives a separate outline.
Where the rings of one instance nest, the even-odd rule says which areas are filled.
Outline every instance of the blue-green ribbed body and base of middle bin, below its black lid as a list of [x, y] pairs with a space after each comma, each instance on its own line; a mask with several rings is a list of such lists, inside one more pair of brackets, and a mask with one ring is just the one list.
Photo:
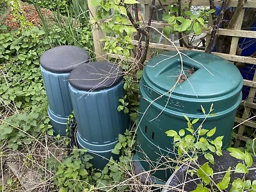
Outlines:
[[70, 86], [70, 96], [77, 122], [77, 142], [95, 155], [92, 162], [100, 168], [106, 165], [111, 150], [118, 142], [118, 134], [129, 129], [129, 119], [118, 112], [118, 99], [124, 97], [123, 81], [108, 90], [84, 92]]

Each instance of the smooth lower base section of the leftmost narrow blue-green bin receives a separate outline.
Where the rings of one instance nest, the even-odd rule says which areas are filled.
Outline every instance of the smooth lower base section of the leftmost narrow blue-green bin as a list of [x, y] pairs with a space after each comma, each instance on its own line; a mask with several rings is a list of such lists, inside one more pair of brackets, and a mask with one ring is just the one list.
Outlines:
[[51, 120], [52, 129], [54, 131], [54, 136], [60, 134], [60, 136], [66, 136], [66, 129], [67, 129], [67, 121], [68, 117], [60, 117], [55, 115], [51, 109], [48, 107], [47, 109], [49, 118]]

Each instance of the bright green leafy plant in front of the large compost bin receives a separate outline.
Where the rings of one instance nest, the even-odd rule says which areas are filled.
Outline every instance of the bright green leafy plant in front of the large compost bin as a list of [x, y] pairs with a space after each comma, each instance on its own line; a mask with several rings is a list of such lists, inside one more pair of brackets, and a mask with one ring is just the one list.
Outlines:
[[[205, 113], [205, 109], [201, 106], [205, 119], [214, 110], [212, 109], [212, 106], [213, 105], [211, 105], [209, 113]], [[185, 129], [180, 129], [179, 132], [169, 130], [166, 131], [166, 134], [173, 138], [173, 145], [178, 153], [179, 162], [177, 163], [176, 170], [180, 165], [188, 161], [196, 164], [197, 169], [188, 170], [188, 173], [191, 176], [196, 173], [203, 182], [198, 184], [193, 192], [211, 191], [212, 186], [214, 186], [217, 191], [221, 191], [227, 189], [229, 184], [231, 184], [230, 191], [232, 192], [256, 191], [256, 180], [252, 181], [250, 179], [246, 179], [246, 173], [249, 172], [249, 168], [253, 165], [252, 156], [249, 152], [241, 152], [238, 148], [230, 147], [227, 148], [227, 150], [230, 152], [230, 156], [236, 157], [242, 162], [236, 164], [235, 170], [231, 170], [229, 167], [221, 181], [218, 183], [214, 182], [214, 170], [212, 170], [210, 164], [215, 163], [214, 156], [212, 156], [212, 154], [216, 154], [217, 156], [223, 155], [221, 151], [223, 136], [218, 136], [214, 140], [211, 140], [211, 137], [214, 136], [216, 132], [216, 127], [208, 130], [204, 129], [201, 124], [197, 129], [195, 129], [193, 125], [195, 125], [199, 119], [196, 118], [194, 120], [190, 120], [186, 115], [184, 115], [184, 118], [188, 121], [188, 127], [186, 128], [188, 134], [185, 134]], [[197, 162], [198, 156], [204, 156], [207, 162], [200, 166]], [[242, 179], [237, 178], [230, 183], [230, 172], [243, 173], [244, 176]]]

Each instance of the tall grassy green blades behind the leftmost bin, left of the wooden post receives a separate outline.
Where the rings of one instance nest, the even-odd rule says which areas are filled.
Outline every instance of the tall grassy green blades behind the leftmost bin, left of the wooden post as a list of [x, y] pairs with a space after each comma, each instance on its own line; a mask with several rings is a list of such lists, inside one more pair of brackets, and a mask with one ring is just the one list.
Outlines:
[[87, 1], [70, 1], [66, 10], [68, 17], [63, 17], [60, 12], [57, 12], [54, 15], [57, 21], [54, 26], [49, 26], [38, 3], [35, 3], [35, 8], [40, 17], [42, 29], [45, 31], [45, 44], [49, 44], [51, 47], [58, 45], [83, 47], [89, 51], [92, 60], [95, 58]]

